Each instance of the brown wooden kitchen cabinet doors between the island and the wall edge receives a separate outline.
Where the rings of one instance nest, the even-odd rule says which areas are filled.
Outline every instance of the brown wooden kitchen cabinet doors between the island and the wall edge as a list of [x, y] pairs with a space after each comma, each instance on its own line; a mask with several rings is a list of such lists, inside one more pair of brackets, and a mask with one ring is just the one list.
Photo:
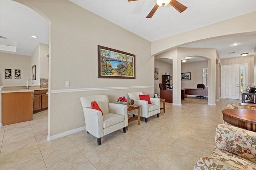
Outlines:
[[34, 91], [33, 113], [48, 109], [48, 90]]

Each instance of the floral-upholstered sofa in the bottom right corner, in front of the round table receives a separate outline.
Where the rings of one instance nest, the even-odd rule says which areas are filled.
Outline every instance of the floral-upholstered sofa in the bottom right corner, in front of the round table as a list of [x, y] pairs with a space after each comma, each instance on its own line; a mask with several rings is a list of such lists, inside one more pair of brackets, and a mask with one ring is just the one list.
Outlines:
[[197, 160], [194, 170], [256, 170], [256, 133], [220, 124], [211, 156]]

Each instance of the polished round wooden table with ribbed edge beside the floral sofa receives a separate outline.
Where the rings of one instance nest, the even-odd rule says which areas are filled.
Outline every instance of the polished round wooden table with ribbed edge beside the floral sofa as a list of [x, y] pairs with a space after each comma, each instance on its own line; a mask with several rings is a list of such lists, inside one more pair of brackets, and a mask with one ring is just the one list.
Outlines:
[[224, 109], [223, 120], [243, 129], [256, 132], [256, 110]]

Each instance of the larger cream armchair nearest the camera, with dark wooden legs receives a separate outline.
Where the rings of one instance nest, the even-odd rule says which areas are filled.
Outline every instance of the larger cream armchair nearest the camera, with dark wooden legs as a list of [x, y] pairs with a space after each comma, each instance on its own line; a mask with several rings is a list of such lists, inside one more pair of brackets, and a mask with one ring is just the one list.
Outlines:
[[[98, 145], [101, 137], [123, 128], [126, 133], [128, 125], [127, 106], [108, 103], [107, 95], [84, 96], [80, 98], [84, 111], [85, 129], [87, 133], [97, 138]], [[103, 112], [92, 109], [91, 102], [96, 101]]]

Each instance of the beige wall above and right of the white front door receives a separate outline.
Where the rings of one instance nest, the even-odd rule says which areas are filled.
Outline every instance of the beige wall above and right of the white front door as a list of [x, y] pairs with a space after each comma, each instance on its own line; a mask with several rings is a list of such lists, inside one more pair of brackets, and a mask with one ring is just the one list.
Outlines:
[[248, 84], [254, 83], [254, 56], [234, 57], [221, 59], [221, 65], [246, 64], [248, 63]]

